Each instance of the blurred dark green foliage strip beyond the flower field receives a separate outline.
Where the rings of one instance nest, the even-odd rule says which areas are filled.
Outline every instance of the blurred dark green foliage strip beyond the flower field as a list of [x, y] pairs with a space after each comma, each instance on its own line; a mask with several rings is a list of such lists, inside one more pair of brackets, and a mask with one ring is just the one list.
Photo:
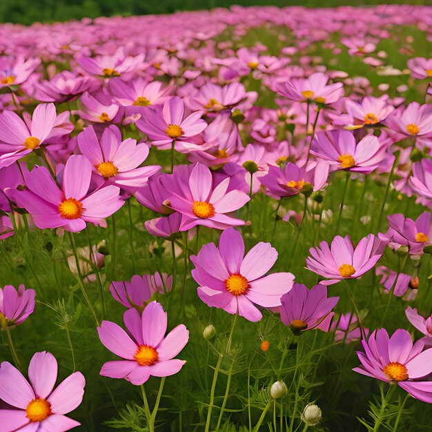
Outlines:
[[432, 6], [432, 0], [0, 0], [0, 22], [31, 24], [83, 17], [111, 15], [169, 14], [177, 10], [199, 10], [240, 6], [373, 6], [406, 3]]

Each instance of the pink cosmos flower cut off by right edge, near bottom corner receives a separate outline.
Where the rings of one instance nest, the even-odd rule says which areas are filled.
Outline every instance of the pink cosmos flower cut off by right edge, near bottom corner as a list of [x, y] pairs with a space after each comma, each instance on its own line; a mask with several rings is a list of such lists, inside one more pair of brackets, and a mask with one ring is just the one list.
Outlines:
[[[399, 328], [389, 338], [384, 328], [375, 330], [367, 342], [362, 340], [364, 353], [357, 352], [362, 363], [353, 371], [398, 384], [413, 397], [432, 402], [432, 348], [423, 351], [424, 343], [413, 344], [408, 331]], [[424, 381], [422, 381], [424, 379]]]

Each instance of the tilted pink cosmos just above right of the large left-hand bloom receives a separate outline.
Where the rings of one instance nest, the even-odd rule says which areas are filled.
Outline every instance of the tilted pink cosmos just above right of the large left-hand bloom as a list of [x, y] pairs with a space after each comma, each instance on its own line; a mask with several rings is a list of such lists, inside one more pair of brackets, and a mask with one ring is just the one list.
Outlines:
[[121, 141], [117, 126], [106, 128], [100, 141], [92, 126], [84, 129], [77, 139], [79, 150], [92, 164], [93, 172], [107, 184], [115, 184], [120, 188], [140, 188], [150, 175], [161, 169], [160, 166], [139, 167], [148, 156], [147, 144], [137, 144], [131, 138]]

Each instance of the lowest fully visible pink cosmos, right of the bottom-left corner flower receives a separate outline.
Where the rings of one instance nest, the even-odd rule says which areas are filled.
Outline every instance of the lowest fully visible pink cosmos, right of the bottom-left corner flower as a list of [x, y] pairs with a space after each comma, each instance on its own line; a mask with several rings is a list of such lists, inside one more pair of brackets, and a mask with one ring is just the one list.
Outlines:
[[162, 306], [151, 302], [142, 315], [128, 309], [123, 315], [132, 338], [120, 326], [103, 321], [97, 328], [106, 348], [125, 360], [106, 362], [100, 374], [110, 378], [124, 378], [132, 384], [144, 384], [150, 376], [168, 377], [177, 373], [186, 363], [174, 357], [186, 346], [189, 332], [184, 324], [166, 333], [167, 317]]

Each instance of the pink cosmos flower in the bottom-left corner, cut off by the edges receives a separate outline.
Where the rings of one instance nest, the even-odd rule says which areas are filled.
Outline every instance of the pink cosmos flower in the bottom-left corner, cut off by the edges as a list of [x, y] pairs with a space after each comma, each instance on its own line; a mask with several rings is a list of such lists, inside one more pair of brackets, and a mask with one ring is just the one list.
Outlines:
[[[30, 383], [9, 362], [0, 364], [0, 399], [13, 409], [0, 409], [1, 431], [69, 431], [80, 423], [66, 417], [81, 404], [86, 380], [72, 373], [57, 389], [57, 360], [42, 351], [28, 366]], [[54, 390], [53, 390], [54, 389]]]

